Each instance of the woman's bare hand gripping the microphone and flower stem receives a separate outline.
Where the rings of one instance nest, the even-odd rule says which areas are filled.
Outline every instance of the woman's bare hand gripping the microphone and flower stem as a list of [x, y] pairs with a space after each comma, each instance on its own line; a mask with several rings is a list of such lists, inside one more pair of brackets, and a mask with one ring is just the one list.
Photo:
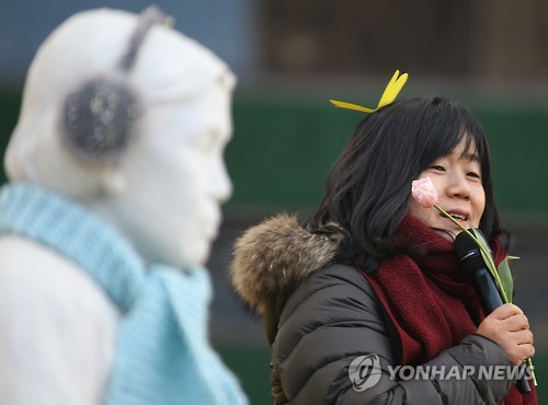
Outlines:
[[481, 322], [477, 333], [498, 343], [515, 366], [535, 354], [529, 321], [512, 303], [505, 303], [491, 312]]

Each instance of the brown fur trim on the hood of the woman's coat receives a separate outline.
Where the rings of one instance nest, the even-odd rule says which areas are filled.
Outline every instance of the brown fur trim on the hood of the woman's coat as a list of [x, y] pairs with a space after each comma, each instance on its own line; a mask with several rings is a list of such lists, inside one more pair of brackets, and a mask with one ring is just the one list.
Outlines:
[[[312, 271], [333, 262], [344, 233], [310, 233], [295, 216], [279, 215], [248, 229], [233, 246], [232, 286], [243, 301], [264, 314], [279, 305]], [[339, 229], [339, 231], [336, 231]]]

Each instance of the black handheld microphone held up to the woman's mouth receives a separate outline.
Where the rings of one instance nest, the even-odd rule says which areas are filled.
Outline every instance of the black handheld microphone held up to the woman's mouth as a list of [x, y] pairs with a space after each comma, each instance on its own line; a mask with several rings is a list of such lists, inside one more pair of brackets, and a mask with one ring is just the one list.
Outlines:
[[[471, 230], [469, 231], [471, 232]], [[479, 246], [466, 232], [460, 232], [455, 239], [455, 250], [457, 251], [460, 267], [472, 280], [473, 288], [480, 298], [486, 314], [490, 314], [504, 302], [494, 284], [493, 276], [489, 271], [483, 256], [481, 256]], [[522, 369], [524, 367], [526, 367], [525, 362], [521, 364]], [[521, 374], [522, 377], [516, 382], [517, 390], [522, 394], [527, 394], [530, 392], [530, 386], [526, 373]]]

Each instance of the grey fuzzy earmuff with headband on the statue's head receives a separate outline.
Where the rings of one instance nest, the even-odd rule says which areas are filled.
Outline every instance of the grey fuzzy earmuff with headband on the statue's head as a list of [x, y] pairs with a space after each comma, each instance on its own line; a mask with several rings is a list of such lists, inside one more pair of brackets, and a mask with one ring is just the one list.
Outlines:
[[89, 79], [67, 96], [61, 136], [79, 160], [91, 164], [116, 163], [135, 137], [141, 106], [138, 94], [126, 82], [126, 74], [135, 65], [147, 33], [157, 23], [171, 26], [172, 19], [156, 7], [146, 9], [115, 72]]

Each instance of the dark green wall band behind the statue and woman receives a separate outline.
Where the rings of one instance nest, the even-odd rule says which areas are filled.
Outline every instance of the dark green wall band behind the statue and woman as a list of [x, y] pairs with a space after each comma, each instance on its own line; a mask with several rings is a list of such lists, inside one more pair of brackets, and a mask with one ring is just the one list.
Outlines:
[[[19, 105], [18, 92], [0, 93], [2, 149]], [[490, 139], [503, 213], [530, 224], [548, 224], [548, 107], [506, 102], [477, 103], [470, 108]], [[235, 185], [226, 206], [228, 218], [302, 211], [318, 204], [330, 167], [362, 116], [333, 108], [323, 100], [237, 95], [233, 117], [235, 137], [226, 154]]]

